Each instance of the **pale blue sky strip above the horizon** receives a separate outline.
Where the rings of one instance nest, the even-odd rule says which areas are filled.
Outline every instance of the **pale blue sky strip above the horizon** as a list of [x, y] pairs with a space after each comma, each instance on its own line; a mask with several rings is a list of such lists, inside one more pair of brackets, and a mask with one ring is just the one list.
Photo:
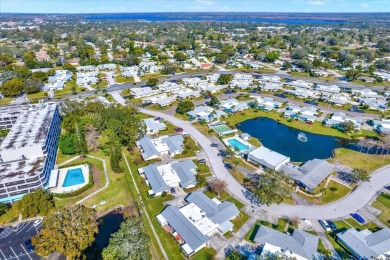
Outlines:
[[390, 0], [0, 0], [0, 12], [390, 12]]

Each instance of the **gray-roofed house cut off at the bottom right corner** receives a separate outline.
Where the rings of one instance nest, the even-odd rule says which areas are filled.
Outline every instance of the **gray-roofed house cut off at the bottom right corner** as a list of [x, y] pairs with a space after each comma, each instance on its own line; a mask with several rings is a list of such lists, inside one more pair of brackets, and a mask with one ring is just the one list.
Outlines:
[[357, 259], [390, 259], [390, 229], [388, 228], [375, 233], [368, 229], [357, 231], [351, 228], [338, 233], [337, 239]]

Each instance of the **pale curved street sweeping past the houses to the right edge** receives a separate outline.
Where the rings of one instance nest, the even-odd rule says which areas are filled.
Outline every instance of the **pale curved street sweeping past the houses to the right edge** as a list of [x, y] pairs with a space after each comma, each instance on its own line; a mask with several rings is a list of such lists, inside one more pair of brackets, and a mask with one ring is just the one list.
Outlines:
[[[120, 102], [123, 103], [123, 102]], [[184, 129], [189, 135], [191, 135], [195, 141], [203, 148], [211, 168], [216, 177], [223, 179], [228, 184], [228, 191], [237, 199], [245, 202], [246, 204], [252, 204], [244, 194], [247, 190], [230, 174], [230, 172], [224, 167], [224, 163], [218, 156], [218, 148], [211, 147], [211, 141], [199, 132], [188, 121], [183, 121], [176, 117], [147, 109], [140, 109], [142, 113], [164, 118], [175, 126], [179, 126]], [[254, 211], [251, 212], [253, 216], [257, 215], [257, 210], [264, 210], [271, 214], [288, 218], [306, 218], [306, 219], [335, 219], [349, 215], [363, 208], [375, 194], [382, 189], [385, 185], [390, 183], [390, 166], [385, 166], [378, 169], [371, 174], [371, 181], [360, 184], [355, 190], [353, 190], [348, 196], [343, 199], [326, 204], [326, 205], [290, 205], [280, 204], [271, 206], [256, 206], [254, 205]]]

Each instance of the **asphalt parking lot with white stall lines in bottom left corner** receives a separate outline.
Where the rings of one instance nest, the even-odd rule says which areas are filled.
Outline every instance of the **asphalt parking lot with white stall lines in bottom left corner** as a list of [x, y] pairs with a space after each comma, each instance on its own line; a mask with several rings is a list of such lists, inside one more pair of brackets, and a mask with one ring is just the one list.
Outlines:
[[25, 241], [35, 236], [41, 229], [41, 225], [34, 227], [33, 223], [33, 221], [25, 222], [25, 225], [17, 231], [14, 231], [13, 227], [6, 227], [0, 230], [0, 260], [41, 259], [40, 256], [29, 250], [25, 244]]

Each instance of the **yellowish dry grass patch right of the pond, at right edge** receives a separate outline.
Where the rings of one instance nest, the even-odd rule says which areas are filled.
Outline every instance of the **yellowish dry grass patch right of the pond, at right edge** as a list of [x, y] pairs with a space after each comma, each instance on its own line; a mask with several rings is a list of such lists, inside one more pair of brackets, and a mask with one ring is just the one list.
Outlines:
[[373, 155], [339, 148], [334, 151], [332, 162], [340, 162], [351, 168], [359, 168], [371, 173], [374, 170], [390, 164], [390, 155]]

